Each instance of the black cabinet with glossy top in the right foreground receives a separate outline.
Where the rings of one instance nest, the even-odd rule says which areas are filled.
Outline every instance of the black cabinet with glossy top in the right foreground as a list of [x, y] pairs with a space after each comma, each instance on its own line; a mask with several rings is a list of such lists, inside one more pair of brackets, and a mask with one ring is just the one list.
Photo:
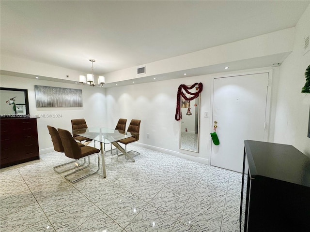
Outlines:
[[292, 145], [244, 144], [240, 231], [310, 231], [310, 158]]

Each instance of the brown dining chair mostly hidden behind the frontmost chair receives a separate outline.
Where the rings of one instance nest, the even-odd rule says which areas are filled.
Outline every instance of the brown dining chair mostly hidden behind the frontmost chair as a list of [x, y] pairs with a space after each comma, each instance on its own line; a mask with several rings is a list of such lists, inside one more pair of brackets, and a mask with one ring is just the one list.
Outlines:
[[[57, 129], [55, 127], [52, 127], [49, 125], [47, 125], [47, 129], [48, 129], [48, 132], [49, 132], [50, 137], [52, 139], [54, 150], [64, 153], [64, 148], [62, 145], [62, 139], [60, 138], [60, 135], [59, 135], [59, 132], [57, 131]], [[79, 147], [85, 146], [81, 143], [78, 143], [78, 142], [76, 142], [76, 143], [78, 144]], [[74, 162], [76, 162], [76, 160], [57, 165], [57, 166], [53, 167], [53, 169], [56, 173], [61, 174], [61, 173], [76, 169], [80, 166], [83, 166], [85, 164], [85, 159], [84, 159], [84, 162], [82, 164], [76, 163], [76, 165], [73, 168], [65, 169], [62, 171], [57, 171], [57, 168], [62, 167], [62, 166], [67, 165], [67, 164], [70, 164], [70, 163], [74, 163]]]

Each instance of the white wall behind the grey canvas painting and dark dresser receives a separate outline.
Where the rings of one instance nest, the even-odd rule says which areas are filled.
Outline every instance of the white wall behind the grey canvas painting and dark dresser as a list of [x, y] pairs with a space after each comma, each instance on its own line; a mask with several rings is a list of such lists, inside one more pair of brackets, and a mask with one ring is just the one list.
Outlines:
[[[89, 87], [60, 82], [33, 80], [15, 76], [1, 75], [1, 87], [28, 89], [29, 112], [37, 119], [40, 154], [52, 151], [52, 142], [47, 125], [71, 131], [71, 119], [85, 118], [89, 127], [107, 126], [106, 123], [106, 96], [105, 88]], [[37, 108], [35, 102], [34, 85], [53, 86], [82, 89], [83, 107]], [[0, 101], [3, 101], [2, 99]], [[47, 115], [60, 115], [61, 117], [45, 117]]]

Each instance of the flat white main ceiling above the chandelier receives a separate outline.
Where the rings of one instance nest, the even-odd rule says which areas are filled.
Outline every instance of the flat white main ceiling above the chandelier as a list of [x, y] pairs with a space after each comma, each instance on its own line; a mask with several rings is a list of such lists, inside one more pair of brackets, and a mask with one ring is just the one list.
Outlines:
[[309, 3], [1, 0], [0, 51], [104, 74], [294, 27]]

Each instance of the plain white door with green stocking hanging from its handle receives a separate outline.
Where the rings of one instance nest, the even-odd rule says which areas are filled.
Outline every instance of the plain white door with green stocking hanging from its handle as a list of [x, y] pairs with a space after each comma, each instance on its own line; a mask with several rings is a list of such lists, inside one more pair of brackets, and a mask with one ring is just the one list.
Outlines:
[[213, 125], [219, 145], [211, 146], [211, 165], [242, 172], [244, 140], [266, 139], [268, 73], [214, 79]]

